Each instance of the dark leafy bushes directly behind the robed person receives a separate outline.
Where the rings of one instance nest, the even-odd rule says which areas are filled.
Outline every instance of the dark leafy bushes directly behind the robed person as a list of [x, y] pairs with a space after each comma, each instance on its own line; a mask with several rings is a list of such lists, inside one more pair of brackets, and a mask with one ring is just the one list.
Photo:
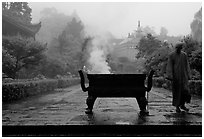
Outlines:
[[[192, 79], [201, 79], [202, 74], [202, 44], [194, 40], [192, 36], [184, 36], [180, 41], [184, 42], [183, 51], [188, 55], [189, 64], [192, 70]], [[156, 76], [165, 76], [168, 55], [173, 51], [168, 42], [159, 42], [157, 38], [146, 36], [139, 42], [140, 56], [146, 58], [146, 70], [154, 69]], [[198, 74], [198, 72], [199, 74]]]

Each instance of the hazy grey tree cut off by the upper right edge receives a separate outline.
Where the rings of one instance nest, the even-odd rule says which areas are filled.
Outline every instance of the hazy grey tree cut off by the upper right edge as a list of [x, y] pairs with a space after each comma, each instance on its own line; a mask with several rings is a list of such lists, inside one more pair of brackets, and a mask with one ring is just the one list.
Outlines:
[[202, 42], [202, 8], [195, 14], [191, 23], [191, 34], [195, 40]]

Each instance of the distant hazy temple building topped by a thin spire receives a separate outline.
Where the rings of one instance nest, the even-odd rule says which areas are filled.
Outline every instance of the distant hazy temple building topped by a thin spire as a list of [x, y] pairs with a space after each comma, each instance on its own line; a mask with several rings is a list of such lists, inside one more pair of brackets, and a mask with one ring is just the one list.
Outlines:
[[115, 46], [113, 56], [120, 58], [126, 57], [130, 61], [134, 62], [136, 60], [136, 55], [138, 54], [137, 46], [140, 39], [145, 35], [140, 26], [140, 21], [138, 21], [138, 27], [132, 34], [128, 33], [128, 37], [125, 38], [119, 45]]

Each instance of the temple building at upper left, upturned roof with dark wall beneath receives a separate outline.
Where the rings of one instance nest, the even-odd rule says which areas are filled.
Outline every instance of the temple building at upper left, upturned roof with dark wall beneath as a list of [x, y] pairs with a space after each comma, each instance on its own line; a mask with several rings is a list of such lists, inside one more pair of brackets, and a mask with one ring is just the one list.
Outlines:
[[28, 38], [34, 38], [36, 33], [40, 30], [41, 22], [38, 24], [27, 24], [2, 14], [2, 35], [21, 35]]

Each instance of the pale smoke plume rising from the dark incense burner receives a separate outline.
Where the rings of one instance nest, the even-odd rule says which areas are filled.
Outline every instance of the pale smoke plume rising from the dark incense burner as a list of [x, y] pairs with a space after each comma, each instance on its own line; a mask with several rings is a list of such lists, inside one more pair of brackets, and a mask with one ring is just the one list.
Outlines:
[[96, 36], [89, 46], [88, 73], [89, 74], [110, 74], [110, 66], [107, 62], [107, 55], [112, 51], [108, 44], [108, 38]]

